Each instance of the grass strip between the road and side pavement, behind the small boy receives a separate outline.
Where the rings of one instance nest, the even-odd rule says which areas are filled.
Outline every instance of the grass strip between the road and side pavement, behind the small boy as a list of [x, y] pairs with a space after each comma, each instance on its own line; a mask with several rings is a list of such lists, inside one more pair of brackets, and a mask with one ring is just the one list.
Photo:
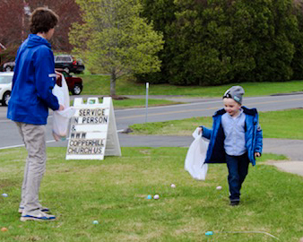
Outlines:
[[[264, 138], [303, 140], [303, 109], [261, 112], [259, 123]], [[131, 125], [131, 134], [191, 135], [200, 125], [212, 127], [212, 117]]]

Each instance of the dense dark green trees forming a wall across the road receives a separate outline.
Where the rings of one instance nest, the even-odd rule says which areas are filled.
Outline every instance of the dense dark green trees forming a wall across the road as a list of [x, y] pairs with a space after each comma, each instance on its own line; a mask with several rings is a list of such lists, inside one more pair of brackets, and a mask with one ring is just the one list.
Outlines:
[[[303, 75], [302, 0], [296, 15], [293, 0], [142, 1], [145, 16], [164, 32], [163, 81], [219, 85]], [[164, 4], [174, 11], [170, 18], [158, 14]]]

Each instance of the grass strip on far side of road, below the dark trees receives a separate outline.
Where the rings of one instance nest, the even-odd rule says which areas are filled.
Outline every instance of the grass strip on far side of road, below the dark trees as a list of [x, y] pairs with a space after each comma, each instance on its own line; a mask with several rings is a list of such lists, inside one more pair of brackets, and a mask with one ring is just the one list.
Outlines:
[[[82, 94], [109, 95], [110, 77], [108, 75], [79, 75], [83, 79]], [[201, 87], [173, 86], [169, 84], [150, 85], [150, 95], [183, 95], [192, 97], [221, 97], [224, 91], [232, 85]], [[246, 96], [264, 96], [276, 93], [303, 91], [303, 81], [292, 82], [244, 82], [240, 83], [246, 91]], [[117, 80], [117, 95], [145, 95], [145, 84], [131, 82], [129, 79]]]

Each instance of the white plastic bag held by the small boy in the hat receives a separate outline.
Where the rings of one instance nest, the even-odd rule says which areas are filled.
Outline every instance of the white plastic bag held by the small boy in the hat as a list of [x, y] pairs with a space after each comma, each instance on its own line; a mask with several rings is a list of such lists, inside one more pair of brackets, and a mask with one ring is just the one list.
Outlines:
[[205, 180], [208, 165], [204, 163], [208, 143], [198, 134], [198, 128], [193, 133], [195, 141], [191, 143], [186, 154], [185, 169], [197, 180]]

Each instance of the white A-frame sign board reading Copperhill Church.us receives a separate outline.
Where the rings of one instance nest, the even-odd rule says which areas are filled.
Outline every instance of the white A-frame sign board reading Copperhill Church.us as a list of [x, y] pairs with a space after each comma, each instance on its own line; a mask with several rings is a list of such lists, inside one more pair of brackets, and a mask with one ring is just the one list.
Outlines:
[[71, 118], [71, 130], [66, 160], [103, 160], [104, 156], [121, 156], [117, 125], [111, 98], [74, 99], [76, 112]]

